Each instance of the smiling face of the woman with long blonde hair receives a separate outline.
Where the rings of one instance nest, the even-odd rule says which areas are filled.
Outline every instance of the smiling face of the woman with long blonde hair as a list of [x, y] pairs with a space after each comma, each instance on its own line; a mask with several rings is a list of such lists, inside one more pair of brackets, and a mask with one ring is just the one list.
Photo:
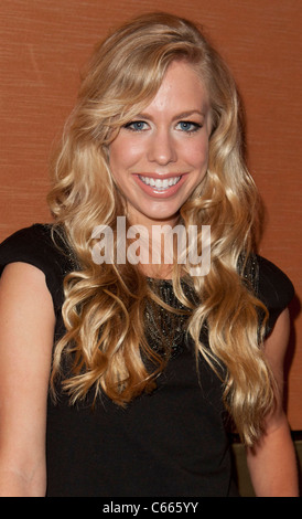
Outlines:
[[122, 127], [109, 162], [131, 224], [175, 224], [208, 161], [208, 97], [185, 62], [173, 62], [150, 105]]

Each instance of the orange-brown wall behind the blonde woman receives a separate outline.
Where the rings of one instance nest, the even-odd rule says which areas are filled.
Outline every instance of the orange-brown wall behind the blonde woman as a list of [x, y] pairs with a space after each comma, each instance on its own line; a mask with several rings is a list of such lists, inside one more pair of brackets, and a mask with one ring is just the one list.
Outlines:
[[0, 240], [50, 221], [53, 141], [76, 97], [93, 45], [129, 17], [165, 10], [201, 22], [242, 93], [249, 167], [267, 208], [261, 254], [295, 285], [288, 413], [302, 430], [302, 1], [1, 0]]

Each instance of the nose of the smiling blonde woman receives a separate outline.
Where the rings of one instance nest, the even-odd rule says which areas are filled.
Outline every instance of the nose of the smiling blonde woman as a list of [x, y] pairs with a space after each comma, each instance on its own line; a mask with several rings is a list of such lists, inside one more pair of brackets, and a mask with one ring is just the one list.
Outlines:
[[160, 166], [177, 160], [176, 146], [169, 130], [162, 129], [153, 134], [149, 146], [148, 159]]

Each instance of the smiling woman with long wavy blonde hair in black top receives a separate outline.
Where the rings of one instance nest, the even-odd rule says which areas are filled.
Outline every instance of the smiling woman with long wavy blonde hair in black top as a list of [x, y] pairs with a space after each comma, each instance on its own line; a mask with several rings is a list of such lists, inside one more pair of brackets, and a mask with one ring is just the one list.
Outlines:
[[[54, 224], [0, 248], [2, 495], [237, 496], [233, 423], [257, 495], [296, 495], [293, 289], [254, 253], [241, 148], [234, 81], [195, 25], [142, 15], [96, 47], [54, 161]], [[196, 230], [181, 258], [161, 232], [176, 226]]]

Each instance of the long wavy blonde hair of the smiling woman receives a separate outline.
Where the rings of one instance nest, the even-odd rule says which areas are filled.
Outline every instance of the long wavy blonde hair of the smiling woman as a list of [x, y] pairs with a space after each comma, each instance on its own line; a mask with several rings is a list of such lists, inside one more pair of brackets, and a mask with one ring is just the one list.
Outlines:
[[[213, 120], [207, 173], [182, 206], [180, 222], [186, 229], [211, 225], [212, 245], [209, 273], [191, 277], [188, 265], [175, 263], [173, 288], [187, 309], [186, 331], [196, 358], [203, 356], [224, 377], [224, 402], [251, 445], [272, 410], [274, 390], [263, 356], [265, 319], [259, 322], [266, 308], [244, 276], [259, 203], [244, 159], [242, 108], [228, 67], [199, 28], [171, 14], [141, 15], [96, 47], [53, 163], [48, 203], [54, 229], [64, 234], [78, 267], [64, 282], [66, 332], [54, 350], [52, 386], [67, 357], [73, 364], [62, 383], [72, 403], [93, 390], [95, 398], [104, 391], [126, 405], [152, 391], [164, 369], [168, 357], [153, 351], [145, 338], [144, 313], [148, 300], [165, 303], [138, 266], [96, 265], [91, 234], [100, 224], [115, 231], [117, 216], [125, 214], [109, 168], [110, 142], [150, 104], [175, 60], [199, 75]], [[197, 245], [201, 252], [202, 234]], [[193, 287], [195, 303], [181, 279]], [[201, 341], [204, 326], [207, 345]], [[152, 360], [151, 372], [145, 358]]]

